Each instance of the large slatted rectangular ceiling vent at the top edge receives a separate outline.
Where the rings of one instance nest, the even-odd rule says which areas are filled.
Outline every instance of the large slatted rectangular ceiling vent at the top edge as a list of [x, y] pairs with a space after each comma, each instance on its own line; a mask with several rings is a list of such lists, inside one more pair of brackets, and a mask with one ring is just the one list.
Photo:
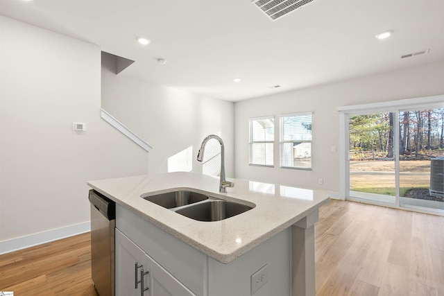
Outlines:
[[269, 19], [275, 21], [312, 1], [314, 0], [251, 0], [251, 3], [255, 4]]

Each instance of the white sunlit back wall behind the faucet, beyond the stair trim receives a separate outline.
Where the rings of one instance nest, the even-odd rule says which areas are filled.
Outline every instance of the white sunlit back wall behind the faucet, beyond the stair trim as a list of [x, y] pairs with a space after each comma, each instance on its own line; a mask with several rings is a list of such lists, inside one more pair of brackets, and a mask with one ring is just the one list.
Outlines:
[[[102, 62], [102, 107], [153, 147], [149, 174], [167, 172], [168, 158], [190, 146], [192, 171], [201, 173], [196, 160], [200, 143], [218, 134], [225, 146], [225, 173], [234, 177], [234, 103], [137, 80], [125, 71], [115, 75], [109, 58]], [[220, 171], [220, 162], [216, 165]]]

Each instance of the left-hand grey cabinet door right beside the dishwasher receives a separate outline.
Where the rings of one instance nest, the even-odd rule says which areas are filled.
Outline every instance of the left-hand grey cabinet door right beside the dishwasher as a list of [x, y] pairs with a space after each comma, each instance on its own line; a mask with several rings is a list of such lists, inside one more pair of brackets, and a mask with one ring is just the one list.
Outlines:
[[141, 294], [141, 289], [148, 287], [149, 283], [149, 274], [144, 275], [143, 282], [140, 282], [141, 272], [148, 271], [151, 263], [145, 252], [119, 229], [116, 229], [115, 252], [116, 296], [150, 296], [149, 290]]

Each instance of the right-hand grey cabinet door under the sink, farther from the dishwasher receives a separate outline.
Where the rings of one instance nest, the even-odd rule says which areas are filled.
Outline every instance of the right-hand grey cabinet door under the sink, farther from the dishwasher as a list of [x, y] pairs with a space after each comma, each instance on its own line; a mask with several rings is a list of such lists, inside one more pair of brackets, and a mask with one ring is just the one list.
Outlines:
[[155, 261], [152, 261], [150, 279], [153, 296], [196, 296]]

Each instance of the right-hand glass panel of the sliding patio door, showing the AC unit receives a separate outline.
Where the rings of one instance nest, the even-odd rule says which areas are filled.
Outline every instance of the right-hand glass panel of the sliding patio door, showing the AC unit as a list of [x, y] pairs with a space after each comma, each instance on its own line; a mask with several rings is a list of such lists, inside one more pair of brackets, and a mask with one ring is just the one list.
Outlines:
[[444, 209], [444, 109], [399, 112], [400, 204]]

